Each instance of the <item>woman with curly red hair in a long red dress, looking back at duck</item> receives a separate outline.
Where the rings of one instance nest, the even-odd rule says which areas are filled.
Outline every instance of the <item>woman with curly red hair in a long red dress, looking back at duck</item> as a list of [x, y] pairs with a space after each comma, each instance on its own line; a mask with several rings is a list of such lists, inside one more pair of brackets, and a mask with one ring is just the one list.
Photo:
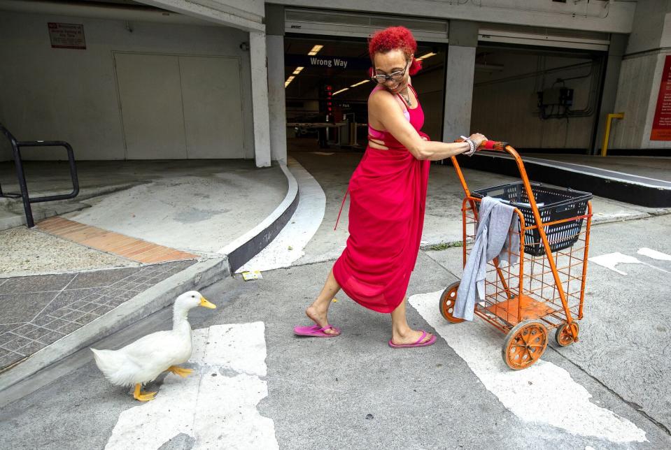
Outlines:
[[410, 75], [421, 68], [417, 43], [404, 27], [390, 27], [369, 41], [374, 81], [368, 99], [368, 147], [354, 171], [347, 246], [324, 288], [307, 310], [316, 325], [296, 327], [298, 335], [335, 337], [328, 307], [343, 289], [360, 305], [390, 313], [390, 347], [426, 347], [436, 337], [412, 330], [406, 320], [406, 291], [424, 224], [429, 161], [474, 152], [485, 136], [462, 143], [432, 142], [421, 130], [424, 113]]

